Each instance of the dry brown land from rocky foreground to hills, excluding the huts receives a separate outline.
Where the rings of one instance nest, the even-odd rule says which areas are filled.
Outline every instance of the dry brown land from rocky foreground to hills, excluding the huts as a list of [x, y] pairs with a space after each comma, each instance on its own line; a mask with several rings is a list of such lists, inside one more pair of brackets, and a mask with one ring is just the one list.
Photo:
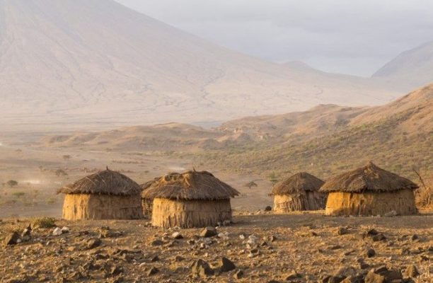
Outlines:
[[[417, 171], [431, 187], [432, 96], [430, 86], [376, 108], [323, 105], [307, 112], [235, 120], [214, 129], [170, 123], [42, 134], [36, 139], [10, 134], [0, 146], [0, 238], [7, 241], [13, 231], [21, 233], [29, 224], [33, 230], [25, 241], [1, 250], [1, 258], [8, 258], [0, 263], [2, 280], [364, 282], [366, 276], [381, 274], [397, 280], [386, 282], [432, 282], [431, 205], [419, 201], [416, 216], [265, 212], [272, 206], [272, 182], [301, 168], [326, 180], [374, 160], [420, 183]], [[313, 142], [315, 146], [309, 145]], [[282, 154], [287, 149], [292, 153]], [[212, 171], [241, 192], [231, 200], [233, 224], [218, 228], [217, 236], [202, 238], [202, 229], [158, 229], [150, 226], [150, 219], [61, 220], [63, 195], [56, 190], [105, 166], [137, 183], [172, 171]], [[257, 186], [249, 188], [251, 181]], [[421, 186], [419, 197], [420, 192], [425, 194], [425, 188]], [[431, 200], [432, 191], [427, 194], [424, 202]], [[44, 216], [57, 220], [49, 228], [37, 227]], [[69, 231], [53, 236], [55, 226]], [[183, 238], [173, 238], [176, 231]], [[247, 243], [250, 236], [253, 241]], [[374, 255], [367, 255], [371, 249]], [[222, 272], [222, 258], [235, 267]], [[209, 268], [194, 267], [197, 260]], [[57, 264], [46, 264], [51, 261]]]

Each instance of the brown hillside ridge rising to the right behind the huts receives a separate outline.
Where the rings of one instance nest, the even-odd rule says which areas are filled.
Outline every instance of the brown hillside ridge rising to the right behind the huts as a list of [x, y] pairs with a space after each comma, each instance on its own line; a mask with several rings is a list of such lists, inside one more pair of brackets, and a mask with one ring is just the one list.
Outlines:
[[376, 107], [319, 105], [305, 112], [246, 117], [203, 129], [176, 123], [77, 132], [42, 139], [39, 146], [162, 151], [195, 163], [266, 176], [331, 173], [376, 163], [414, 178], [433, 171], [433, 85]]

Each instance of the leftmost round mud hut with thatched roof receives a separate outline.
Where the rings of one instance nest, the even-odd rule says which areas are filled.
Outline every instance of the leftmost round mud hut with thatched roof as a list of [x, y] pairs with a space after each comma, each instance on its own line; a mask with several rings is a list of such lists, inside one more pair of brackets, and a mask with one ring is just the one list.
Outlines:
[[140, 219], [140, 192], [137, 183], [108, 168], [57, 191], [65, 194], [62, 214], [67, 220]]

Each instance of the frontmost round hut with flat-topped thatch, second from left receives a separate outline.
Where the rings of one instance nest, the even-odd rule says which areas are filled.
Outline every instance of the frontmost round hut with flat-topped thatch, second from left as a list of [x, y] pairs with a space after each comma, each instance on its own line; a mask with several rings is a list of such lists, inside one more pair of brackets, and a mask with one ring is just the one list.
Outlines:
[[207, 171], [170, 173], [143, 190], [154, 200], [152, 225], [164, 228], [215, 226], [231, 220], [230, 198], [238, 191]]

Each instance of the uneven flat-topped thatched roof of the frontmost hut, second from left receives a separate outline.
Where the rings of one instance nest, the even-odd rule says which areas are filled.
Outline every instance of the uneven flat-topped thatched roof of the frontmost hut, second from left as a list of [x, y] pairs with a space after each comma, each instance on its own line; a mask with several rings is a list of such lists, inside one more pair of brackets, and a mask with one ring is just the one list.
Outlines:
[[142, 186], [142, 198], [170, 200], [224, 200], [239, 195], [230, 185], [207, 171], [169, 173]]

